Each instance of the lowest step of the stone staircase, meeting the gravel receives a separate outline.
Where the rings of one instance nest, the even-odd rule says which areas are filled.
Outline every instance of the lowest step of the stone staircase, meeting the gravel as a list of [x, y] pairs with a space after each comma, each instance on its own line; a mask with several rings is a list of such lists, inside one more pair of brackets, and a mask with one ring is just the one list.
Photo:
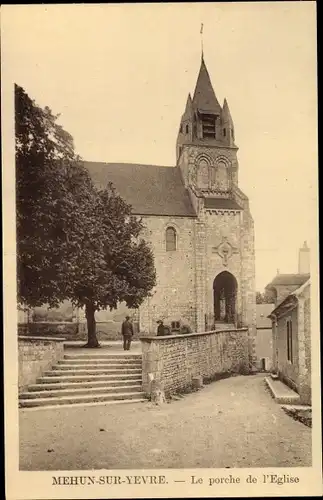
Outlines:
[[58, 405], [71, 405], [74, 403], [94, 403], [102, 401], [117, 401], [117, 400], [131, 400], [131, 399], [144, 399], [143, 392], [120, 392], [120, 393], [103, 393], [103, 394], [90, 394], [79, 396], [59, 396], [51, 398], [36, 398], [36, 399], [20, 399], [19, 407], [35, 407], [35, 406], [58, 406]]

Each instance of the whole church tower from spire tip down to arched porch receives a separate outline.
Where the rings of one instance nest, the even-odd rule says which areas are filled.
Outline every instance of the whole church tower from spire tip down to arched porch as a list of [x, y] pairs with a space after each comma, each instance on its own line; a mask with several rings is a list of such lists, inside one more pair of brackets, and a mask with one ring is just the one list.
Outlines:
[[197, 328], [255, 325], [254, 227], [238, 187], [238, 148], [228, 103], [221, 107], [202, 55], [188, 95], [176, 158], [196, 221]]

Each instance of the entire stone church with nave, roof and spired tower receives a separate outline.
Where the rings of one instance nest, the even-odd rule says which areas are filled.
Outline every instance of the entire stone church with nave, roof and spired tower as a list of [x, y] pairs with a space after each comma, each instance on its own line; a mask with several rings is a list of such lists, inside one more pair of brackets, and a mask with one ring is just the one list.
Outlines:
[[174, 331], [235, 325], [255, 335], [254, 223], [237, 151], [228, 103], [219, 104], [202, 55], [175, 166], [86, 162], [95, 185], [112, 182], [145, 224], [157, 286], [139, 309], [142, 334], [155, 334], [162, 319]]

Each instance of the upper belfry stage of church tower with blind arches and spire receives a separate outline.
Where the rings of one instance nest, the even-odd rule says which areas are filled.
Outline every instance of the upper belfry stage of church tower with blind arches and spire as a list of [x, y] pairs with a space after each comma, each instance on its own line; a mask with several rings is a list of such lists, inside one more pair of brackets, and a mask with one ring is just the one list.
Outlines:
[[176, 164], [186, 187], [199, 195], [229, 196], [238, 185], [237, 151], [228, 102], [224, 99], [220, 105], [202, 53], [193, 98], [188, 95], [176, 143]]

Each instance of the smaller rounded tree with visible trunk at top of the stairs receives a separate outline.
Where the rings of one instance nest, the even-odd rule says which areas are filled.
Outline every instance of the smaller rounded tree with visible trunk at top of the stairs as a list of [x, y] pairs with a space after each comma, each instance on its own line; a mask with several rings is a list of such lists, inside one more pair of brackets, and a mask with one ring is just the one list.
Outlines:
[[98, 244], [85, 239], [77, 256], [72, 278], [72, 301], [85, 307], [87, 347], [97, 347], [95, 312], [115, 309], [119, 302], [140, 306], [156, 284], [154, 257], [140, 238], [143, 223], [132, 215], [131, 206], [112, 184], [98, 191], [94, 207]]

